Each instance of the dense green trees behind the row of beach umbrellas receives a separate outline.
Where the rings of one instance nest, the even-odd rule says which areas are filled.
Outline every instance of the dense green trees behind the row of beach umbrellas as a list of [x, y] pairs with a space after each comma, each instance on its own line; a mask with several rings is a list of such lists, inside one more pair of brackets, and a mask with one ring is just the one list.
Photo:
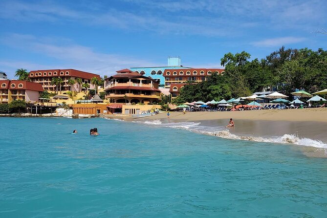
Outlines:
[[248, 96], [264, 88], [277, 88], [286, 95], [295, 89], [315, 92], [327, 88], [327, 51], [319, 48], [285, 49], [272, 52], [265, 59], [249, 61], [251, 55], [225, 54], [220, 59], [225, 73], [213, 73], [207, 81], [185, 85], [173, 103], [216, 101]]

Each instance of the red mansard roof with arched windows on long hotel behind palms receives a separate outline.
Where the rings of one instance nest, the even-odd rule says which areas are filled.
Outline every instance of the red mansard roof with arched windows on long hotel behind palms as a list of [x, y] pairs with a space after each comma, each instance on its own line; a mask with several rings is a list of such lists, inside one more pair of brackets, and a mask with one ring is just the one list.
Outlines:
[[[54, 74], [54, 72], [57, 72], [57, 74]], [[63, 74], [60, 74], [63, 72]], [[68, 72], [68, 74], [66, 74]], [[36, 76], [36, 73], [38, 74]], [[41, 75], [39, 75], [41, 73]], [[44, 75], [45, 73], [45, 75]], [[33, 74], [33, 76], [31, 75]], [[74, 76], [74, 77], [80, 77], [83, 79], [92, 79], [93, 77], [97, 77], [100, 79], [100, 75], [94, 74], [94, 73], [88, 73], [76, 69], [46, 69], [46, 70], [31, 70], [28, 74], [28, 77], [56, 77], [56, 76]]]

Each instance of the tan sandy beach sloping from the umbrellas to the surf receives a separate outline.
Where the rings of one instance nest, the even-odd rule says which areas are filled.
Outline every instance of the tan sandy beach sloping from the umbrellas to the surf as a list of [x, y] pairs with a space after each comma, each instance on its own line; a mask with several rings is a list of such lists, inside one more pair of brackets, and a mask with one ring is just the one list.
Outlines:
[[[162, 123], [195, 122], [207, 127], [224, 128], [230, 118], [235, 127], [226, 128], [244, 140], [256, 140], [256, 137], [286, 137], [285, 142], [295, 144], [296, 140], [307, 140], [306, 146], [294, 146], [305, 155], [312, 157], [327, 157], [326, 149], [310, 147], [316, 142], [327, 144], [327, 108], [318, 109], [283, 109], [283, 110], [253, 110], [253, 111], [203, 111], [203, 112], [170, 112], [159, 113], [151, 117], [134, 119], [137, 121], [155, 121]], [[286, 135], [286, 136], [285, 136]], [[290, 135], [287, 138], [287, 135]], [[224, 137], [224, 135], [222, 135]], [[311, 141], [314, 140], [314, 141]], [[315, 146], [315, 145], [314, 145]]]

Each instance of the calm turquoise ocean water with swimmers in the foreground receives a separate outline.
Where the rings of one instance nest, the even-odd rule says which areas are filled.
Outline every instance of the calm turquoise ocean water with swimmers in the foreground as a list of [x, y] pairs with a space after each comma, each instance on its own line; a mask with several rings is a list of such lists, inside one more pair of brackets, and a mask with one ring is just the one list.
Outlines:
[[198, 126], [0, 118], [0, 217], [327, 217], [326, 158]]

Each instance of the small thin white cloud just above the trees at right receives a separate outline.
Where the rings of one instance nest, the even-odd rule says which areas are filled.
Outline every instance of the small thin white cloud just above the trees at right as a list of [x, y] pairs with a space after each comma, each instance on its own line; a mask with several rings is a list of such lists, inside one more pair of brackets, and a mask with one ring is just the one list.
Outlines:
[[252, 42], [252, 45], [258, 47], [275, 47], [275, 46], [282, 46], [285, 44], [295, 44], [305, 41], [305, 38], [301, 37], [280, 37], [280, 38], [272, 38], [272, 39], [265, 39], [262, 41]]

